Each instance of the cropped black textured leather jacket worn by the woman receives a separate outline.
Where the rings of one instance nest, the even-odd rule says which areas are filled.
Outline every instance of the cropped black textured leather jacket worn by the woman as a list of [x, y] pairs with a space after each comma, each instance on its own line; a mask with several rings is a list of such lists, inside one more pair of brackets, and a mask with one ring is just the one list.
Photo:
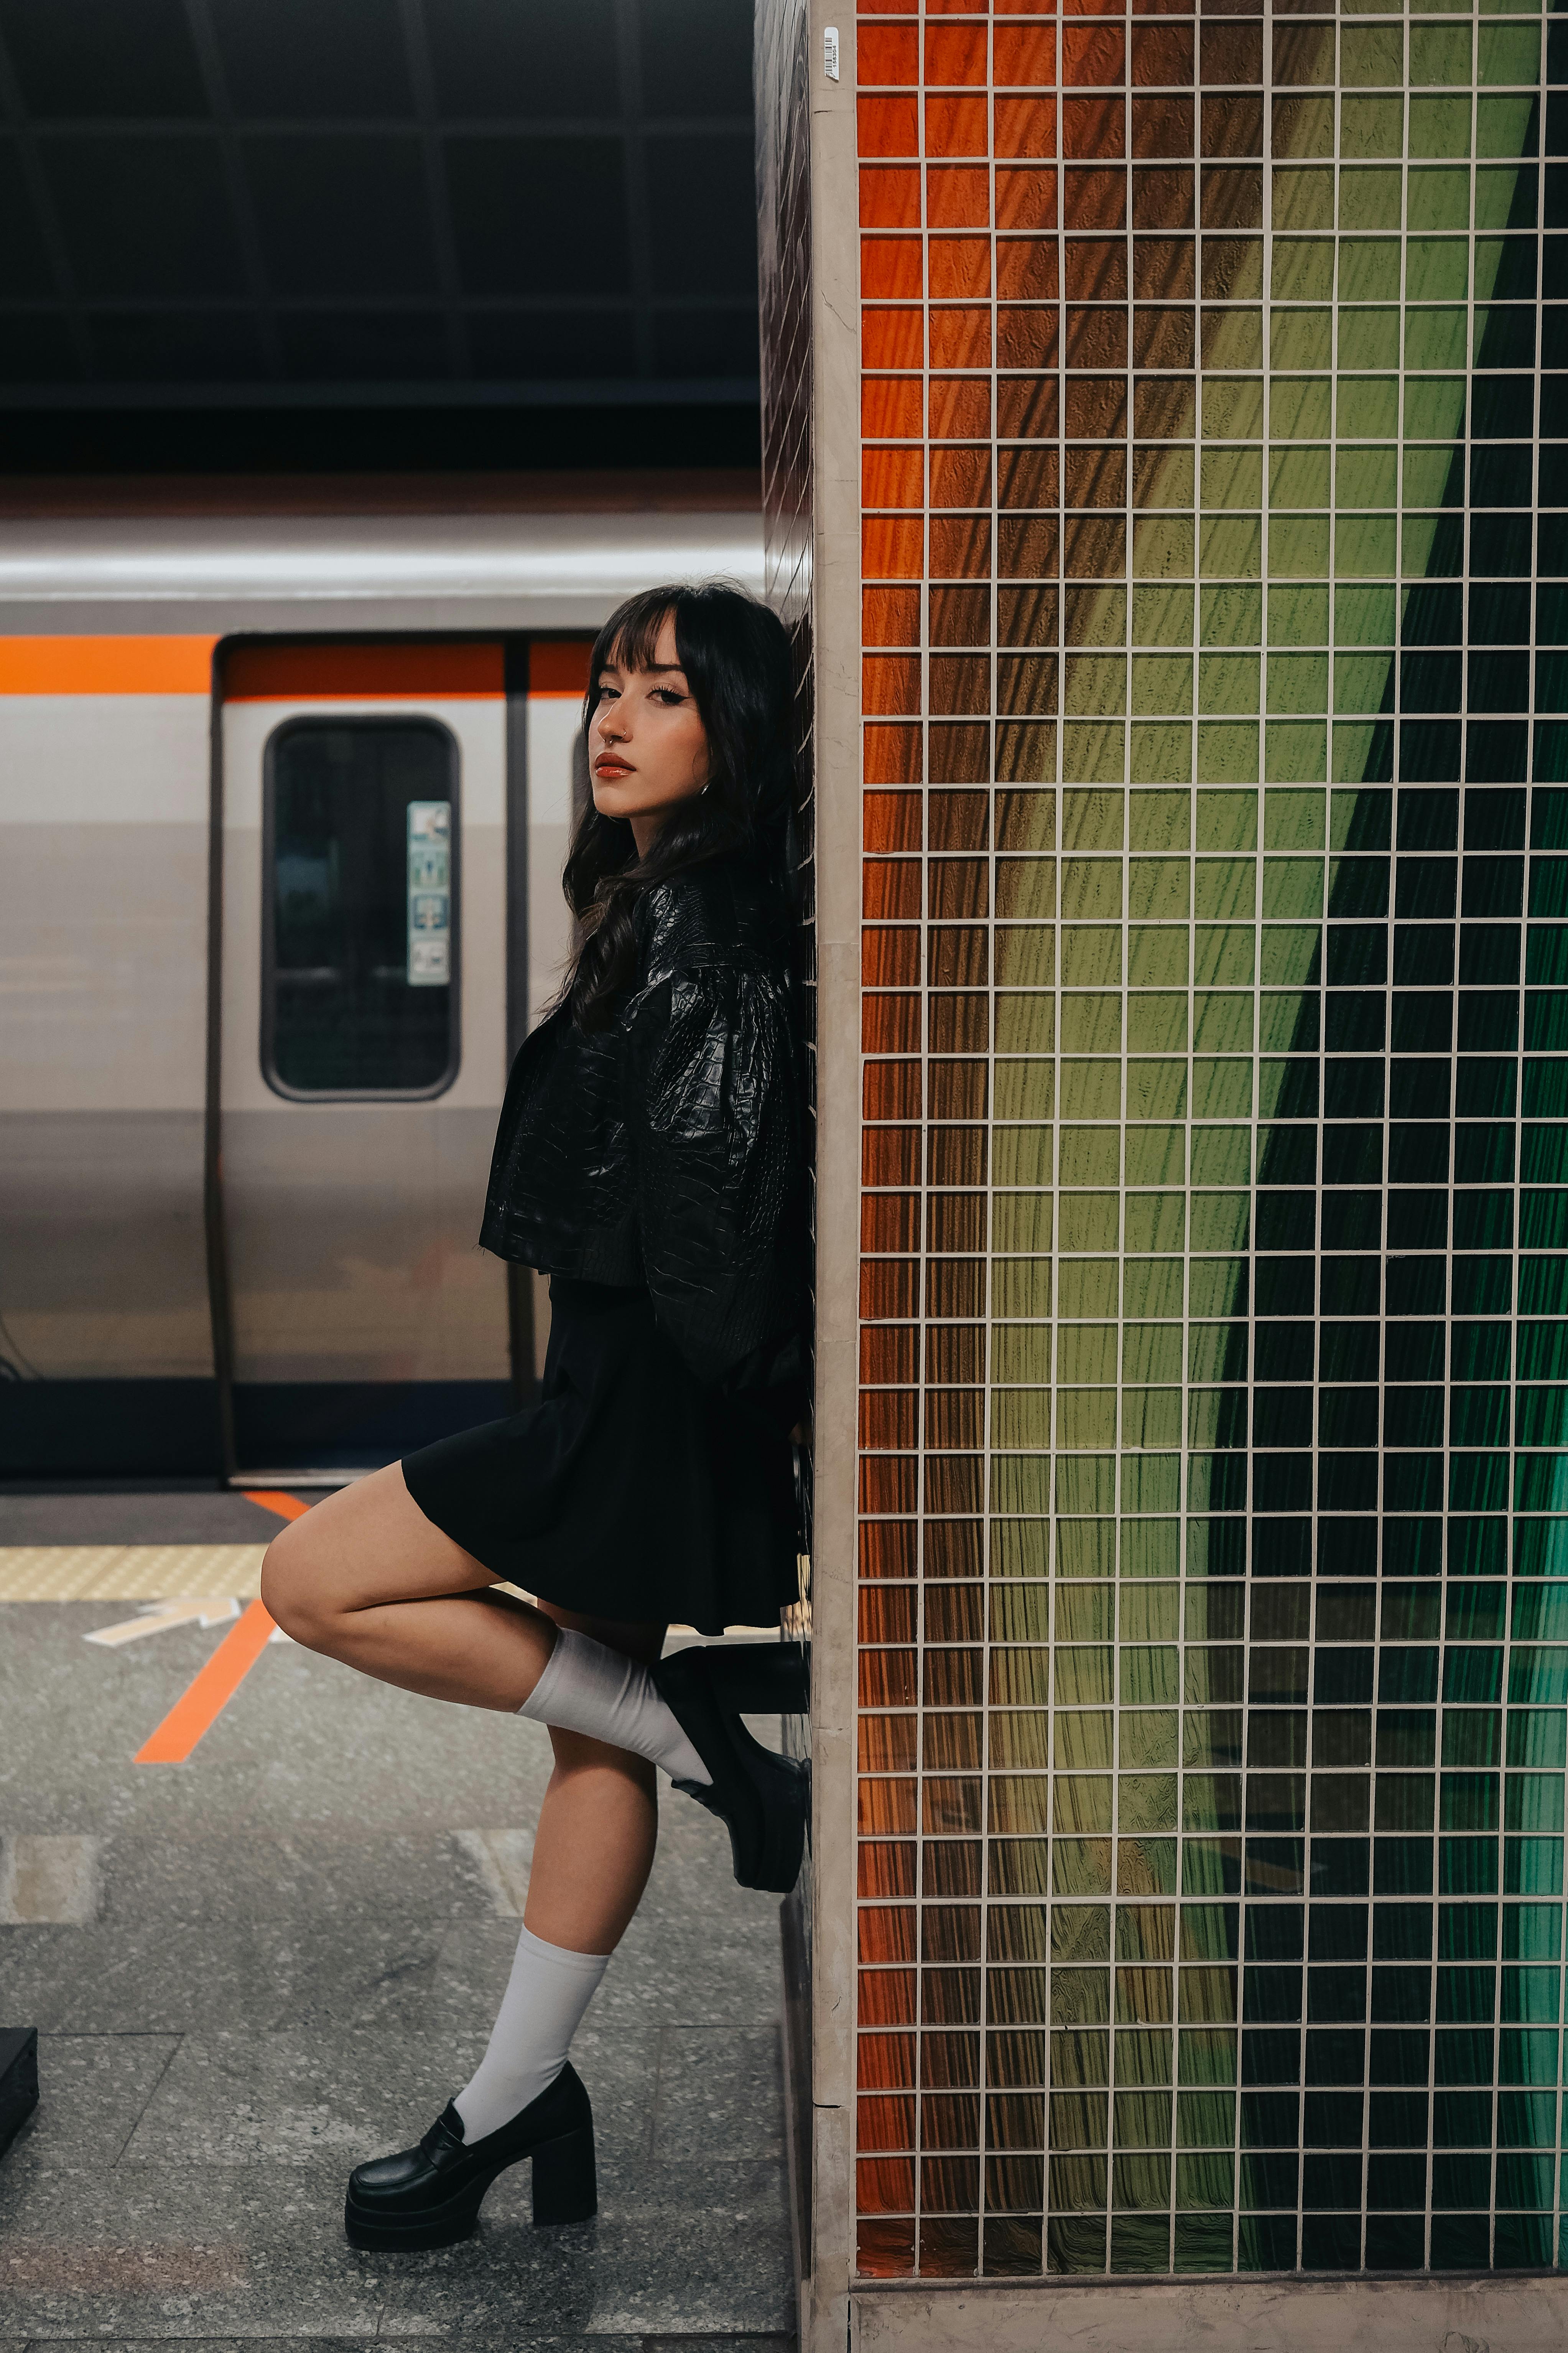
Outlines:
[[701, 1381], [778, 1388], [806, 1299], [783, 908], [748, 861], [717, 859], [644, 892], [637, 932], [609, 1028], [585, 1035], [562, 1007], [524, 1040], [480, 1240], [583, 1282], [646, 1282]]

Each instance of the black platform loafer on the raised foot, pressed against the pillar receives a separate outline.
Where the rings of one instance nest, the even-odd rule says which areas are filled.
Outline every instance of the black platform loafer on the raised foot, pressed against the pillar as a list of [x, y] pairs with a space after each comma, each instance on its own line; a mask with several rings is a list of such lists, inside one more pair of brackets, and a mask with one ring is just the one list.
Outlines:
[[726, 1687], [724, 1645], [677, 1649], [654, 1668], [658, 1694], [712, 1774], [677, 1781], [729, 1831], [741, 1887], [788, 1897], [799, 1878], [811, 1812], [811, 1767], [750, 1737]]

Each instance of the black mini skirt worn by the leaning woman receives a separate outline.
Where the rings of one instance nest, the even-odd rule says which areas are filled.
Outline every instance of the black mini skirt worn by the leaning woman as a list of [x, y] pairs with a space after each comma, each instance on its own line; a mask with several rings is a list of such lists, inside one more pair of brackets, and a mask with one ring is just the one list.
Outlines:
[[773, 1626], [797, 1598], [795, 1412], [701, 1388], [646, 1289], [552, 1275], [538, 1405], [404, 1454], [402, 1475], [442, 1534], [559, 1609]]

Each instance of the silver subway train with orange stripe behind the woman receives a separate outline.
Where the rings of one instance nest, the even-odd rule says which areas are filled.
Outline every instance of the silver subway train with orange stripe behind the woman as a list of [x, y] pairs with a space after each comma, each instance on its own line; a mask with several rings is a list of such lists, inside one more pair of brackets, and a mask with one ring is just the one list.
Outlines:
[[477, 1247], [599, 621], [748, 475], [0, 489], [0, 1478], [336, 1482], [527, 1400]]

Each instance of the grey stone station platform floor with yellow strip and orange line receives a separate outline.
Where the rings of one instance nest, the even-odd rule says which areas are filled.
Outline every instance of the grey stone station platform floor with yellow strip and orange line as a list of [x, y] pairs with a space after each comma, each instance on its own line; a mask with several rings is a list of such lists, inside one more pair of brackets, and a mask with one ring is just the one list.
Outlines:
[[484, 2049], [548, 1737], [266, 1640], [261, 1548], [310, 1497], [270, 1501], [0, 1492], [0, 2026], [42, 2085], [0, 2344], [788, 2353], [778, 1901], [663, 1781], [574, 2045], [597, 2221], [534, 2231], [515, 2167], [461, 2247], [346, 2245], [348, 2169]]

